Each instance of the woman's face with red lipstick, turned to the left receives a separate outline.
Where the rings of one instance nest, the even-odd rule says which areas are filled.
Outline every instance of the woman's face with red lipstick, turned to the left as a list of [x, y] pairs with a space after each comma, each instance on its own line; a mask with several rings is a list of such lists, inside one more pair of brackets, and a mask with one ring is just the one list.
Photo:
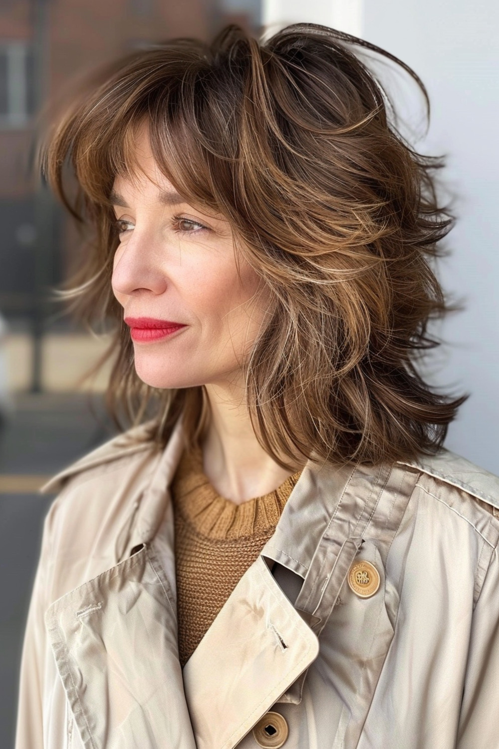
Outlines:
[[112, 198], [120, 230], [112, 288], [137, 374], [159, 388], [235, 383], [269, 295], [238, 258], [227, 220], [183, 201], [159, 172], [145, 129], [137, 161], [137, 176], [117, 178]]

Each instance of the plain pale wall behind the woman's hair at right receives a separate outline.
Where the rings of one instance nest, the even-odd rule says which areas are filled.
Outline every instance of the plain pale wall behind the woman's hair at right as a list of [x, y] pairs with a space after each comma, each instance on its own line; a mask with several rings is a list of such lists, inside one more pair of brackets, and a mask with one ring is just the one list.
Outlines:
[[[499, 474], [499, 4], [357, 1], [356, 31], [341, 22], [337, 28], [397, 55], [429, 91], [429, 134], [416, 147], [447, 154], [441, 175], [458, 196], [459, 220], [447, 237], [452, 254], [441, 266], [441, 280], [466, 307], [444, 324], [441, 334], [449, 345], [438, 355], [435, 380], [471, 392], [450, 426], [447, 446]], [[334, 8], [341, 19], [341, 7], [350, 5], [313, 0], [300, 15], [295, 2], [267, 0], [264, 18], [287, 21], [284, 9], [293, 7], [293, 22], [323, 19], [334, 25]], [[400, 76], [397, 81], [397, 100], [403, 100], [406, 116], [412, 112], [410, 121], [420, 123], [423, 106], [414, 85]]]

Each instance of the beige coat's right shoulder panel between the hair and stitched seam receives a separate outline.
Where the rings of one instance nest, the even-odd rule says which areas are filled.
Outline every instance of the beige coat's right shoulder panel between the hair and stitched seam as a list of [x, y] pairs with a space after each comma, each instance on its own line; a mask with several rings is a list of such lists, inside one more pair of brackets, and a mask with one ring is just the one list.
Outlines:
[[401, 464], [420, 472], [416, 484], [419, 491], [456, 512], [480, 535], [488, 527], [491, 538], [498, 536], [498, 476], [447, 449]]

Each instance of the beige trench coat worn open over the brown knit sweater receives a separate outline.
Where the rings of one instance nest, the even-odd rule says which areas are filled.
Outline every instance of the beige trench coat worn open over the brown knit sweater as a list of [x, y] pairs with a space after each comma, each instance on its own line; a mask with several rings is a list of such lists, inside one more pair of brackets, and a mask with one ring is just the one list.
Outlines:
[[[16, 749], [256, 749], [268, 711], [285, 749], [499, 747], [499, 479], [450, 452], [307, 464], [182, 671], [182, 445], [180, 425], [164, 452], [120, 438], [48, 485]], [[359, 560], [370, 598], [347, 584]]]

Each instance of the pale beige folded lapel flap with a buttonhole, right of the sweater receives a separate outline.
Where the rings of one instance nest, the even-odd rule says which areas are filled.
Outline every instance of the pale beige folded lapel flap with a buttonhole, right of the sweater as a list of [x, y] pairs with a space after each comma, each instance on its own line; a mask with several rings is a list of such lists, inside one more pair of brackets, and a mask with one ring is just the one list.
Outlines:
[[245, 572], [183, 670], [198, 749], [231, 749], [319, 652], [263, 557]]

